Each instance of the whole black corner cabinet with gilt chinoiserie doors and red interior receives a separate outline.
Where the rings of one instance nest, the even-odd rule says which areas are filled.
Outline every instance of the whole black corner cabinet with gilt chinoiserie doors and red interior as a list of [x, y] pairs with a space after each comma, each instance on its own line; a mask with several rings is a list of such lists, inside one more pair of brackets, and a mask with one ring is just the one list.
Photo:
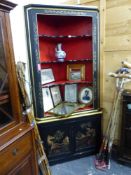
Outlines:
[[34, 112], [50, 164], [96, 153], [98, 9], [31, 4], [25, 20]]

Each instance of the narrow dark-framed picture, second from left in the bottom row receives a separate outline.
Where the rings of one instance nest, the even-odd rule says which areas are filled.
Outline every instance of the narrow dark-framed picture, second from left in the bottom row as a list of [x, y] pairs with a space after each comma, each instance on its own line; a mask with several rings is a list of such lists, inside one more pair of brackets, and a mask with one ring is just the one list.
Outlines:
[[50, 88], [50, 90], [51, 90], [54, 106], [56, 106], [62, 102], [60, 88], [59, 86], [53, 86]]

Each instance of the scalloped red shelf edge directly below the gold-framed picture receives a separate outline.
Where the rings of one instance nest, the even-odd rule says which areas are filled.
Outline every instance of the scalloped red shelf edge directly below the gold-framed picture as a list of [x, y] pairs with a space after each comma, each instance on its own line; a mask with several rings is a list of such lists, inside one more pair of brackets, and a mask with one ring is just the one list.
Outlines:
[[45, 88], [45, 87], [51, 87], [51, 86], [57, 86], [57, 85], [65, 85], [65, 84], [88, 84], [88, 85], [92, 85], [93, 82], [89, 82], [89, 81], [68, 81], [68, 80], [65, 80], [65, 81], [57, 81], [57, 82], [52, 82], [52, 83], [48, 83], [48, 84], [42, 84], [42, 88]]

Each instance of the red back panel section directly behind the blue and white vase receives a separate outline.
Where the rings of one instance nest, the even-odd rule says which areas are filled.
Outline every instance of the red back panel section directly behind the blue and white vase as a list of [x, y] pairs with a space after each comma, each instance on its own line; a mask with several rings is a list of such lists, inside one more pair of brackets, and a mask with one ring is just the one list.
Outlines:
[[57, 42], [57, 39], [39, 40], [40, 61], [56, 61], [55, 48], [58, 43], [62, 43], [62, 50], [66, 52], [65, 60], [92, 59], [92, 39], [64, 39]]

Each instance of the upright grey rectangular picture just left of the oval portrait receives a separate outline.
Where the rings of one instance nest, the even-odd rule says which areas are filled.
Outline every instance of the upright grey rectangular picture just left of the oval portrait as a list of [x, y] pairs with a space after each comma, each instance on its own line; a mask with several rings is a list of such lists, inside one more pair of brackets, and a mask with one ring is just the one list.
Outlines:
[[65, 85], [65, 101], [77, 102], [77, 84]]

